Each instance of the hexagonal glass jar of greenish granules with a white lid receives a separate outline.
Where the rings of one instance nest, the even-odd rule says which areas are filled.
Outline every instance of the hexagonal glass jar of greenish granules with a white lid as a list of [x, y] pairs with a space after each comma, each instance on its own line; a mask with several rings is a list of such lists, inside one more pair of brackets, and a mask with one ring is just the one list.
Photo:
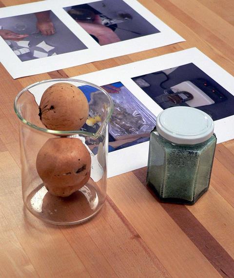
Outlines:
[[162, 201], [194, 204], [209, 188], [214, 122], [191, 107], [168, 108], [151, 132], [147, 182]]

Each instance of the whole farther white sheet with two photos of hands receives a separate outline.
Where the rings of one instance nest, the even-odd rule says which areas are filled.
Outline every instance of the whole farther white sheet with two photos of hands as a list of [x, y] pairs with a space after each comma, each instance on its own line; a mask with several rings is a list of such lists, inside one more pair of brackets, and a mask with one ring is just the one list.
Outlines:
[[0, 60], [13, 78], [180, 41], [137, 0], [47, 0], [0, 8]]

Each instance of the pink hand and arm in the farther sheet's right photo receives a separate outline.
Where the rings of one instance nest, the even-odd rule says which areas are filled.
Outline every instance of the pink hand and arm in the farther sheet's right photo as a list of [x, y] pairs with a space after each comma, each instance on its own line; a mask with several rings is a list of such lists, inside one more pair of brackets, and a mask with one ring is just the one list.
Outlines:
[[95, 16], [95, 20], [92, 23], [83, 22], [81, 20], [77, 20], [77, 22], [87, 33], [97, 37], [100, 45], [120, 41], [120, 38], [112, 29], [101, 24], [101, 20], [98, 15]]

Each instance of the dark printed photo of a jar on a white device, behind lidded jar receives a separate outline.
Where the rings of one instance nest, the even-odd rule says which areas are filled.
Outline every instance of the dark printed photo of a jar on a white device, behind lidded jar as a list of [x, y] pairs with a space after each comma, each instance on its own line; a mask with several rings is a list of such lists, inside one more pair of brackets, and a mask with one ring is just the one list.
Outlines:
[[190, 106], [206, 112], [214, 121], [234, 115], [234, 96], [193, 63], [132, 80], [162, 109]]

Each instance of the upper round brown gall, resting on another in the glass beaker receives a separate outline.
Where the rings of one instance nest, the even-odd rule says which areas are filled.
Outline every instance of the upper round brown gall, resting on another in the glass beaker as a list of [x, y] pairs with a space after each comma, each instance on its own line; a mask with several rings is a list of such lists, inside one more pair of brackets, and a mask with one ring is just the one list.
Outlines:
[[41, 97], [39, 117], [49, 130], [80, 130], [88, 115], [85, 95], [70, 83], [54, 84]]

